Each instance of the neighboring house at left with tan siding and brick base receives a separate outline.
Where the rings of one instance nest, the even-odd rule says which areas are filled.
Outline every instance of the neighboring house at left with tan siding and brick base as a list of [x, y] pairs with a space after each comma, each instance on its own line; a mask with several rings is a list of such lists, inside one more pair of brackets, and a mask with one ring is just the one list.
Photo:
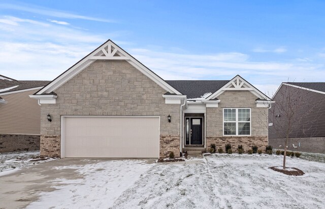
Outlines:
[[29, 95], [47, 83], [0, 75], [0, 153], [40, 149], [41, 106]]

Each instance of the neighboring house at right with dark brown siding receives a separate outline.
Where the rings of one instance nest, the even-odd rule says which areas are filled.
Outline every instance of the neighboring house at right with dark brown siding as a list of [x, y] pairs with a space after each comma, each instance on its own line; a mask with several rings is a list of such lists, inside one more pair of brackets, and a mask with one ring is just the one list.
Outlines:
[[[269, 144], [293, 151], [325, 153], [325, 82], [283, 82], [269, 110]], [[289, 104], [290, 102], [290, 104]], [[290, 108], [291, 107], [291, 108]], [[294, 113], [288, 129], [289, 110]], [[288, 115], [288, 116], [287, 116]]]

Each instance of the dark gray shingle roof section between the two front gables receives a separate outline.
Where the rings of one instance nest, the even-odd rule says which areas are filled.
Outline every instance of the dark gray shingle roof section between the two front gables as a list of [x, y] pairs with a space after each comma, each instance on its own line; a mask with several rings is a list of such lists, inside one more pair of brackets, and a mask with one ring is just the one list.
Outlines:
[[200, 98], [205, 93], [214, 93], [223, 87], [229, 80], [166, 80], [187, 99]]

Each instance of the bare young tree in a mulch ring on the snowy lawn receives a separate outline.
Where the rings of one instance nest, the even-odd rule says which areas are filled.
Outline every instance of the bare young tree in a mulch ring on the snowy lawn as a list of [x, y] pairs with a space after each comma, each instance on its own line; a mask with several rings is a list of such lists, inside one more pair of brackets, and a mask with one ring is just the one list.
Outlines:
[[[292, 87], [282, 83], [274, 95], [272, 107], [269, 109], [269, 133], [283, 140], [284, 155], [283, 169], [286, 169], [285, 159], [289, 138], [312, 137], [317, 132], [317, 103], [310, 102], [310, 96], [314, 92]], [[306, 118], [313, 116], [306, 123]], [[270, 135], [269, 134], [269, 135]]]

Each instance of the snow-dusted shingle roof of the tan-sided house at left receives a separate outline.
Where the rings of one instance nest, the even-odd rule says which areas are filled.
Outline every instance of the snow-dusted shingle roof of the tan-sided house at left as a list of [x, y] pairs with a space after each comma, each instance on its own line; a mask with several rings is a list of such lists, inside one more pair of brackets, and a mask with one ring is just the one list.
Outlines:
[[[0, 75], [0, 76], [8, 78], [3, 75]], [[50, 81], [48, 81], [48, 80], [15, 80], [12, 78], [0, 79], [0, 90], [17, 86], [16, 88], [10, 89], [8, 91], [3, 91], [0, 93], [13, 92], [13, 91], [17, 91], [17, 90], [31, 89], [31, 88], [36, 88], [36, 87], [43, 87], [43, 86], [47, 85], [49, 82]]]

